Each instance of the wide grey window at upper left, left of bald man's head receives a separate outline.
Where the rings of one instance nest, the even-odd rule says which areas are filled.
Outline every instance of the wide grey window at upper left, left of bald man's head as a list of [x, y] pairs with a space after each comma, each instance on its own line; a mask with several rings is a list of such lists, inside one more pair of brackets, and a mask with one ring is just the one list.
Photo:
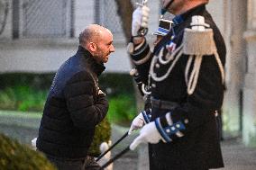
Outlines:
[[14, 0], [14, 38], [71, 37], [72, 3], [73, 0]]

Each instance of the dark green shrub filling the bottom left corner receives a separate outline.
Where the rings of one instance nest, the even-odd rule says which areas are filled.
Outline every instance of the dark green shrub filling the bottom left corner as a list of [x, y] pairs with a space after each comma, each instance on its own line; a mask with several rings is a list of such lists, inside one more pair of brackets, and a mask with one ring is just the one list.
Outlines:
[[55, 170], [46, 157], [0, 134], [0, 169]]

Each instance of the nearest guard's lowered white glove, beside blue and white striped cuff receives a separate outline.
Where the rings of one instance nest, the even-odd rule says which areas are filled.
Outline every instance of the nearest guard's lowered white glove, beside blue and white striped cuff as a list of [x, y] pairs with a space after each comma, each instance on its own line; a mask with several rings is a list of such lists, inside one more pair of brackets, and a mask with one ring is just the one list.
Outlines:
[[[155, 122], [152, 121], [142, 128], [142, 130], [140, 131], [140, 135], [136, 139], [134, 139], [133, 143], [130, 145], [130, 149], [134, 150], [141, 143], [149, 142], [151, 144], [156, 144], [159, 143], [160, 139], [162, 139], [160, 133], [156, 128]], [[164, 139], [162, 140], [165, 142]]]

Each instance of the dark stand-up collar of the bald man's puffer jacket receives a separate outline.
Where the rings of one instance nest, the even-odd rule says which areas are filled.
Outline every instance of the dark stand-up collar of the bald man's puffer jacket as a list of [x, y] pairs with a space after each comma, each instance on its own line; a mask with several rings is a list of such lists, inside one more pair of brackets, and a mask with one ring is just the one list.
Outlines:
[[101, 73], [105, 70], [104, 63], [97, 63], [96, 59], [93, 58], [92, 54], [82, 46], [78, 47], [78, 56], [81, 56], [85, 59], [87, 66], [96, 73], [97, 76], [100, 76]]

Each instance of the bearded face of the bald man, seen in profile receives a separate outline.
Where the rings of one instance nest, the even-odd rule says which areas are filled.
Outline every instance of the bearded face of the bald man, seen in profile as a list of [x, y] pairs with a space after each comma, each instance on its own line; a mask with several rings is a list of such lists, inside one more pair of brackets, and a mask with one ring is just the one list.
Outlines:
[[110, 53], [114, 52], [113, 35], [110, 31], [104, 31], [96, 43], [96, 60], [102, 63], [108, 61]]

